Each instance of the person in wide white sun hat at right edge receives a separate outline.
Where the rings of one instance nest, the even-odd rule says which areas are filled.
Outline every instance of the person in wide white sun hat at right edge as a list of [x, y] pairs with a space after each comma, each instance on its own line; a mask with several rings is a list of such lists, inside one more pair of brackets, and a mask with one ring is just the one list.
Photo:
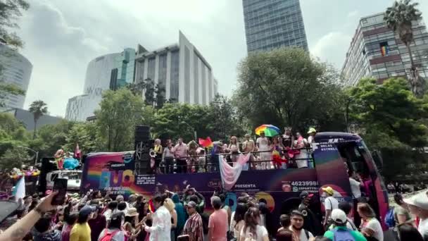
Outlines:
[[417, 230], [424, 240], [428, 240], [428, 199], [427, 194], [420, 193], [403, 200], [408, 205], [410, 213], [420, 218]]

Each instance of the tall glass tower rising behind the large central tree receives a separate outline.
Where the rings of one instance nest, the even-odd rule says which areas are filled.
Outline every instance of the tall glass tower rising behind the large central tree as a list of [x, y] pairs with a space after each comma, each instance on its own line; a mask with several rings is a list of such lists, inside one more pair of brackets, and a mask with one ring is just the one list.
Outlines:
[[242, 5], [248, 53], [292, 46], [308, 50], [299, 0], [243, 0]]

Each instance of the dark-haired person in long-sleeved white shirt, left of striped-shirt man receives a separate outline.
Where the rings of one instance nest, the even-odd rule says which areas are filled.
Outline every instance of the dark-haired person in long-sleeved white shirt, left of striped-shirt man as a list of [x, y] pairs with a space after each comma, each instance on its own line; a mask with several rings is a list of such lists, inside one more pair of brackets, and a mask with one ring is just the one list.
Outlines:
[[152, 225], [151, 227], [143, 224], [144, 230], [147, 233], [150, 233], [150, 241], [167, 241], [171, 240], [171, 214], [168, 209], [163, 206], [166, 196], [156, 195], [153, 198], [153, 204], [156, 208], [155, 213], [152, 216]]

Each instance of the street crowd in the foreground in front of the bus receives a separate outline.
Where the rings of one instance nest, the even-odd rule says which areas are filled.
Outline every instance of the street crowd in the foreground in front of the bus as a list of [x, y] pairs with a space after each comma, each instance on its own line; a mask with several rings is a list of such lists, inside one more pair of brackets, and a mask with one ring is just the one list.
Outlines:
[[[382, 225], [370, 204], [358, 199], [353, 204], [339, 202], [331, 187], [325, 193], [323, 220], [317, 218], [314, 194], [301, 192], [300, 204], [272, 220], [265, 199], [239, 194], [234, 211], [226, 193], [216, 190], [210, 197], [213, 212], [204, 212], [206, 200], [189, 186], [182, 195], [165, 190], [152, 199], [131, 194], [101, 194], [99, 191], [68, 194], [63, 205], [52, 206], [57, 192], [46, 197], [26, 196], [22, 205], [1, 222], [0, 240], [153, 240], [153, 241], [307, 241], [307, 240], [384, 240]], [[422, 241], [428, 238], [428, 197], [425, 193], [410, 199], [394, 197], [395, 240]], [[416, 217], [416, 218], [415, 218]], [[386, 240], [386, 239], [385, 239]]]

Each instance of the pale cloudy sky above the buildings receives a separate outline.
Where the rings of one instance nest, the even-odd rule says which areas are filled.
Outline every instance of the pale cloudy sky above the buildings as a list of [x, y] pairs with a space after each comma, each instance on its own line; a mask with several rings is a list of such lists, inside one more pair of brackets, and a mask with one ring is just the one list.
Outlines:
[[[424, 18], [428, 1], [418, 0]], [[392, 0], [301, 0], [310, 53], [340, 69], [363, 16]], [[158, 49], [178, 42], [178, 31], [213, 67], [220, 94], [236, 88], [237, 63], [246, 56], [241, 0], [30, 0], [20, 19], [21, 50], [33, 64], [25, 109], [44, 100], [64, 116], [69, 98], [82, 94], [87, 63], [125, 47]]]

